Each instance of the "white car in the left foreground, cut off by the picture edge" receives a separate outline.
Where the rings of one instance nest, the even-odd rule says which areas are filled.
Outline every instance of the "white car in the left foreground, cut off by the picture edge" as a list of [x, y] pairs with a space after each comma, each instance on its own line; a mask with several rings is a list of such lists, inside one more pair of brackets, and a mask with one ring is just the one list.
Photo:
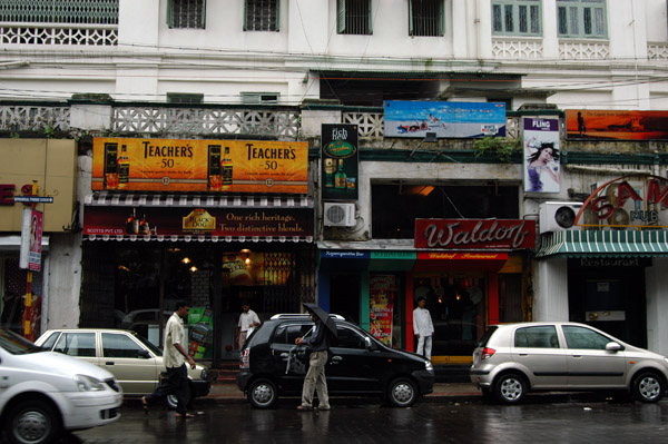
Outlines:
[[0, 363], [0, 417], [11, 443], [49, 443], [120, 417], [122, 389], [102, 368], [2, 329]]

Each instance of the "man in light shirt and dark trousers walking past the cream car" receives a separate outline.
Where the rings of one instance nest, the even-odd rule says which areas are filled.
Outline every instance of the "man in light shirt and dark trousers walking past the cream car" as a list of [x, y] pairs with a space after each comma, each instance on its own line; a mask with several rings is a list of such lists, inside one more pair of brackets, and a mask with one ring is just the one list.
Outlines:
[[163, 361], [167, 368], [167, 384], [159, 385], [154, 393], [141, 398], [141, 405], [146, 414], [148, 414], [149, 403], [173, 394], [177, 398], [176, 417], [194, 417], [186, 411], [190, 398], [186, 362], [190, 365], [190, 368], [195, 368], [195, 359], [188, 355], [183, 345], [185, 344], [184, 319], [188, 318], [189, 313], [190, 304], [178, 302], [176, 303], [176, 312], [167, 320], [165, 345], [163, 347]]

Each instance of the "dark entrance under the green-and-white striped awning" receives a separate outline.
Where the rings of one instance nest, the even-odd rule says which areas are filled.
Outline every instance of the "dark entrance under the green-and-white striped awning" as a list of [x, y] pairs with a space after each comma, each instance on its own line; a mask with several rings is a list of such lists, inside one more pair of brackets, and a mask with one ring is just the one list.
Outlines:
[[[632, 266], [623, 266], [627, 263]], [[647, 347], [645, 267], [637, 266], [640, 259], [596, 259], [595, 264], [592, 259], [569, 259], [569, 319]]]

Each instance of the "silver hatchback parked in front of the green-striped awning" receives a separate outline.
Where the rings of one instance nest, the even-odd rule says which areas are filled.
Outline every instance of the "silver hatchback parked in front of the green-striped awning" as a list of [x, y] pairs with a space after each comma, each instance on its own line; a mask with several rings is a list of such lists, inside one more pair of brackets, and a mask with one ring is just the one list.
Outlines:
[[584, 324], [502, 324], [482, 336], [470, 376], [485, 397], [505, 404], [528, 392], [599, 389], [655, 403], [668, 387], [668, 358]]

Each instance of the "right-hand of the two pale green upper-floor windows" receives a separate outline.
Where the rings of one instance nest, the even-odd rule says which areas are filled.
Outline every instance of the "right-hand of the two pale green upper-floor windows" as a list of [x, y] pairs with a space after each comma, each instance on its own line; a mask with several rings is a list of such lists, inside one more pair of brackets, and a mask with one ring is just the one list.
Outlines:
[[607, 38], [606, 0], [557, 0], [557, 26], [559, 37]]

